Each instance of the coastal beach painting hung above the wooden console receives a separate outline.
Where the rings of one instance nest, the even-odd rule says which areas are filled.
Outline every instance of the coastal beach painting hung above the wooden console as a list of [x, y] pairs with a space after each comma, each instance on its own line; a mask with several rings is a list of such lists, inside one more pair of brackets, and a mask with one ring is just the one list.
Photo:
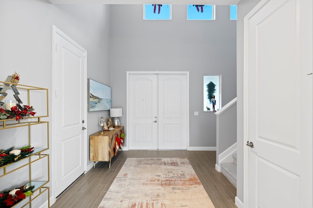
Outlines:
[[90, 111], [110, 110], [111, 87], [88, 79], [88, 109]]

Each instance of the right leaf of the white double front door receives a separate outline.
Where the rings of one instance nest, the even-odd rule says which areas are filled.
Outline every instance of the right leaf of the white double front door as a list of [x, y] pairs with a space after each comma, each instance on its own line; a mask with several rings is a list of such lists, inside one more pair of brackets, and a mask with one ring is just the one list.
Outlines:
[[186, 94], [185, 74], [159, 74], [159, 149], [186, 149]]

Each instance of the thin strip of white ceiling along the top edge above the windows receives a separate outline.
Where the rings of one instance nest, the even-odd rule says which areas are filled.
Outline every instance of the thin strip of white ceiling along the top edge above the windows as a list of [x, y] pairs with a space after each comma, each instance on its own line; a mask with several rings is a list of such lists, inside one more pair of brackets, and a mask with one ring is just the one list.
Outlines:
[[49, 0], [52, 4], [213, 4], [236, 5], [240, 0]]

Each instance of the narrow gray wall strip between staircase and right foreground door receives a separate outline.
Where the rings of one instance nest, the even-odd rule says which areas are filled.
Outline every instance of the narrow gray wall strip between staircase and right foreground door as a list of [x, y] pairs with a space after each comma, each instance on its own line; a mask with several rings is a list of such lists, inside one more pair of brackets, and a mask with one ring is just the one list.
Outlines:
[[237, 197], [244, 202], [244, 18], [260, 0], [237, 5]]

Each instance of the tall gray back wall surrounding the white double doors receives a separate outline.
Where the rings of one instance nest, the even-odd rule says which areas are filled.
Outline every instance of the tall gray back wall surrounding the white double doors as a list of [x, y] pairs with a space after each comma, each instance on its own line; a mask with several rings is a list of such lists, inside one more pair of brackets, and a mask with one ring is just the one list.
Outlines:
[[173, 5], [171, 21], [144, 21], [142, 5], [111, 6], [112, 106], [123, 108], [126, 126], [126, 71], [189, 71], [190, 146], [215, 147], [216, 116], [202, 110], [203, 75], [222, 74], [222, 106], [236, 97], [236, 21], [229, 6], [216, 6], [215, 21], [187, 21], [186, 10]]

